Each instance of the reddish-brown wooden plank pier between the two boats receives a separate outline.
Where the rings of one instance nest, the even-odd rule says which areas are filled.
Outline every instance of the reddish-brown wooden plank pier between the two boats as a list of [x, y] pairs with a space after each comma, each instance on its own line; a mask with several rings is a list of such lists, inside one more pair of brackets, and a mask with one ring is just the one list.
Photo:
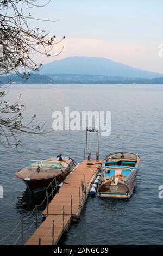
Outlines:
[[102, 161], [83, 161], [67, 176], [59, 193], [54, 196], [43, 212], [43, 215], [47, 216], [46, 220], [26, 245], [39, 245], [39, 239], [41, 239], [41, 245], [52, 245], [53, 221], [54, 244], [57, 244], [61, 235], [70, 226], [71, 219], [79, 218], [89, 195], [91, 182], [95, 180], [101, 164]]

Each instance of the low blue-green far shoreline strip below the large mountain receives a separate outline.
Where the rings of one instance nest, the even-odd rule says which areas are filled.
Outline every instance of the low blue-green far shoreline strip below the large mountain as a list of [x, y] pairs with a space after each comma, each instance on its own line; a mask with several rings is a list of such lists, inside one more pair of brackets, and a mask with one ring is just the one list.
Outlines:
[[0, 76], [0, 85], [3, 84], [111, 84], [111, 85], [129, 85], [129, 84], [163, 84], [163, 77], [158, 78], [132, 78], [121, 76], [105, 76], [105, 75], [80, 75], [80, 74], [47, 74], [40, 75], [32, 73], [28, 79], [17, 75], [8, 77]]

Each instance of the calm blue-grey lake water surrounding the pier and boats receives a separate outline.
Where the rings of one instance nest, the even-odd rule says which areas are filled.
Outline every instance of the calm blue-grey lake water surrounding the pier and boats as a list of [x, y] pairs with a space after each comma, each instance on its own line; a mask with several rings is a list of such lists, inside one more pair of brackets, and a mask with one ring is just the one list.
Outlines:
[[[163, 185], [163, 86], [107, 85], [31, 85], [12, 86], [8, 100], [26, 103], [26, 120], [36, 114], [36, 121], [52, 130], [52, 113], [64, 111], [111, 111], [111, 135], [100, 136], [100, 158], [105, 152], [133, 151], [142, 163], [133, 197], [130, 199], [89, 198], [77, 224], [60, 240], [61, 245], [160, 245], [163, 232], [163, 199], [158, 187]], [[85, 131], [54, 131], [47, 135], [20, 136], [18, 154], [9, 150], [1, 154], [0, 239], [11, 233], [22, 217], [42, 202], [44, 194], [31, 196], [26, 186], [15, 177], [16, 170], [28, 160], [47, 159], [63, 149], [65, 156], [80, 162], [84, 157]], [[96, 137], [89, 137], [89, 149], [95, 156]], [[3, 153], [1, 148], [1, 153]], [[39, 214], [45, 208], [39, 208]], [[24, 221], [24, 231], [30, 228], [34, 215]], [[40, 218], [41, 223], [41, 218]], [[24, 242], [33, 233], [33, 225]], [[20, 225], [0, 244], [20, 244]]]

